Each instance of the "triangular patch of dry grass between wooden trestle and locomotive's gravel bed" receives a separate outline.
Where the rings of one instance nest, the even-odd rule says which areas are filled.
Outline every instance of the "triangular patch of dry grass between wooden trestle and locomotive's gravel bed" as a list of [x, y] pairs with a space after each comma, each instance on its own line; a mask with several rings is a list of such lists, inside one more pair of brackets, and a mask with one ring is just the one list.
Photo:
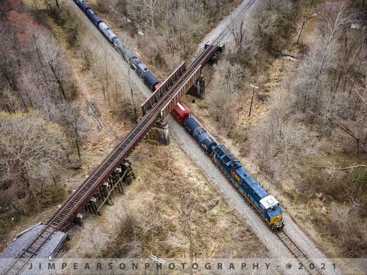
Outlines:
[[[126, 196], [114, 198], [118, 206], [104, 207], [102, 217], [88, 221], [89, 229], [73, 230], [77, 235], [92, 230], [94, 236], [69, 243], [66, 256], [267, 256], [243, 217], [207, 182], [178, 144], [142, 144], [131, 161], [137, 179], [125, 188]], [[101, 226], [103, 232], [98, 230]], [[77, 250], [76, 246], [87, 248]]]

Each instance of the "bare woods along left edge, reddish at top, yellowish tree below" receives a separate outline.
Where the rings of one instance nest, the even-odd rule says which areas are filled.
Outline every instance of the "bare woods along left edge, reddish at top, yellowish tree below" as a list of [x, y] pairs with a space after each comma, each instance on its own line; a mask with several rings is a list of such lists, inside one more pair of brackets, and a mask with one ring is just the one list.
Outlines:
[[[60, 171], [78, 166], [84, 121], [57, 39], [20, 1], [0, 6], [0, 213], [21, 215], [62, 198]], [[65, 131], [64, 131], [65, 130]], [[4, 215], [2, 215], [4, 217]]]

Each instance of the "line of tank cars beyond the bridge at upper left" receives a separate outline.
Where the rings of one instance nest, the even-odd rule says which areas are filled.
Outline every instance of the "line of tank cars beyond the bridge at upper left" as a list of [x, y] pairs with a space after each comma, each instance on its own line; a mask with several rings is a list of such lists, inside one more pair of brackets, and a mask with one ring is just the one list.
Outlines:
[[145, 82], [149, 85], [152, 91], [155, 91], [161, 85], [160, 81], [155, 77], [155, 75], [150, 72], [148, 67], [144, 65], [143, 62], [137, 58], [132, 51], [117, 37], [115, 32], [102, 21], [101, 18], [88, 6], [84, 0], [75, 0], [75, 3], [84, 11], [84, 13], [95, 23], [98, 30], [107, 38], [108, 41], [115, 47], [115, 49], [131, 64], [132, 69], [134, 69], [139, 75], [141, 75]]

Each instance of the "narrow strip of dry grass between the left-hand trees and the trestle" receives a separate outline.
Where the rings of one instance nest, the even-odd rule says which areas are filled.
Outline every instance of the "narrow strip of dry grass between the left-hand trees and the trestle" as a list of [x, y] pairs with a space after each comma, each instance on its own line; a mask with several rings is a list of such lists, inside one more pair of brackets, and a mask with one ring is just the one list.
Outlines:
[[[25, 4], [29, 5], [29, 8], [38, 7], [42, 9], [44, 3], [42, 1], [27, 1]], [[39, 6], [36, 6], [36, 4], [39, 4]], [[43, 11], [40, 11], [40, 14], [44, 14]], [[66, 37], [63, 36], [63, 30], [52, 21], [52, 18], [44, 16], [43, 19], [43, 23], [47, 22], [47, 27], [52, 29], [54, 34], [60, 36], [58, 42], [60, 47], [65, 51], [66, 61], [70, 67], [70, 77], [74, 80], [79, 91], [74, 103], [81, 107], [89, 129], [88, 138], [80, 148], [82, 166], [78, 170], [64, 171], [60, 178], [61, 186], [66, 191], [65, 197], [68, 197], [72, 190], [76, 189], [84, 181], [85, 175], [88, 175], [106, 157], [106, 154], [115, 146], [119, 138], [130, 131], [133, 124], [128, 115], [122, 120], [121, 118], [117, 120], [116, 116], [110, 111], [108, 101], [103, 99], [102, 91], [98, 85], [94, 84], [98, 81], [95, 75], [92, 72], [86, 72], [83, 65], [83, 58], [79, 52], [71, 48], [68, 42], [66, 42]], [[70, 20], [75, 20], [76, 23], [79, 23], [81, 29], [84, 27], [84, 24], [80, 23], [81, 21], [76, 16], [70, 18]], [[101, 111], [101, 117], [99, 117], [101, 124], [91, 114], [87, 107], [87, 102], [95, 103], [98, 106], [98, 109]], [[33, 209], [31, 215], [15, 216], [14, 220], [11, 220], [11, 217], [0, 216], [0, 251], [6, 247], [6, 244], [18, 232], [21, 232], [38, 221], [47, 221], [57, 210], [57, 205], [62, 203], [64, 199], [60, 198], [56, 202], [51, 202], [37, 211]]]

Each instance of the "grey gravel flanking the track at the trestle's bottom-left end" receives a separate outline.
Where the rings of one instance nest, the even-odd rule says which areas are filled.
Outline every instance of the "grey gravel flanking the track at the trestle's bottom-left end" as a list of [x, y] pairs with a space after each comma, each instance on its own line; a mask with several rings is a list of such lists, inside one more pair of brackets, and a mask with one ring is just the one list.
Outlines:
[[[45, 228], [46, 225], [40, 224], [32, 229], [26, 231], [24, 234], [19, 236], [13, 242], [8, 244], [8, 247], [3, 250], [0, 254], [0, 274], [3, 274], [7, 269], [8, 265], [13, 263], [16, 258], [20, 255], [22, 251], [24, 251], [30, 243], [37, 237], [38, 234]], [[37, 255], [34, 258], [40, 259], [42, 262], [47, 263], [48, 257], [51, 256], [52, 252], [56, 249], [57, 245], [66, 235], [65, 232], [55, 231], [51, 239], [44, 243], [41, 249], [37, 252]], [[50, 261], [51, 262], [51, 261]], [[29, 273], [24, 274], [34, 274], [35, 271], [29, 271]]]

